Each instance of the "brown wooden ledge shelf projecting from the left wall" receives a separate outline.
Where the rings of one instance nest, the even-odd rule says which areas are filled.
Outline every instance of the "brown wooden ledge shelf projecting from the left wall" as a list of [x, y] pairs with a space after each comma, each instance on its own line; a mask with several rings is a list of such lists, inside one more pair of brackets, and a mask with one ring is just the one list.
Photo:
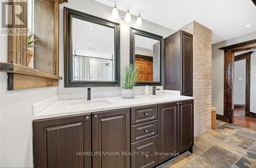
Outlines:
[[62, 79], [62, 77], [57, 75], [44, 73], [40, 70], [36, 70], [31, 67], [13, 64], [13, 63], [7, 63], [7, 62], [0, 62], [0, 70], [5, 71], [6, 73], [22, 74], [22, 75], [58, 79], [58, 80]]

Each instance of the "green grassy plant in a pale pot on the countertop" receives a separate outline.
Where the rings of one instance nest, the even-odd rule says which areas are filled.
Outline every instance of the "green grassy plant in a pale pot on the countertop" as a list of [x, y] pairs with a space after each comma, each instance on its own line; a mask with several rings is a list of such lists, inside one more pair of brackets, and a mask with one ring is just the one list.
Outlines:
[[138, 79], [138, 68], [134, 64], [126, 65], [122, 84], [122, 98], [131, 99], [135, 97], [134, 86]]

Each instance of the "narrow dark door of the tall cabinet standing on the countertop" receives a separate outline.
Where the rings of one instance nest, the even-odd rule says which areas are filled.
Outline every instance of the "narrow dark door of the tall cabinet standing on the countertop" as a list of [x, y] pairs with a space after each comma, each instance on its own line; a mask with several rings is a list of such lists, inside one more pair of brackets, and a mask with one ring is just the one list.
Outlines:
[[193, 96], [193, 35], [181, 31], [181, 95]]

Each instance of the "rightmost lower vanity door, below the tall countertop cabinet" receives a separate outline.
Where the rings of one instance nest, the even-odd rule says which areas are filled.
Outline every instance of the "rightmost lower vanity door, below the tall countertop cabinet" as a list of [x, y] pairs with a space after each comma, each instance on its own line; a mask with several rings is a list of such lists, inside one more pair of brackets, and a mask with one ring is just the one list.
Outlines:
[[179, 152], [194, 146], [194, 101], [179, 105]]

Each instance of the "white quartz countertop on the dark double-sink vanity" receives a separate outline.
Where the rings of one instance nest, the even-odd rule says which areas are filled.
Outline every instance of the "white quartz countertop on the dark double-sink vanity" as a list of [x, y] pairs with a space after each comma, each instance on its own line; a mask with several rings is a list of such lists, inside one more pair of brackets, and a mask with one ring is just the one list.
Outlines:
[[148, 96], [136, 95], [134, 99], [110, 97], [94, 98], [91, 101], [87, 101], [86, 99], [57, 101], [53, 105], [34, 115], [33, 120], [191, 99], [194, 98], [177, 94], [163, 93]]

